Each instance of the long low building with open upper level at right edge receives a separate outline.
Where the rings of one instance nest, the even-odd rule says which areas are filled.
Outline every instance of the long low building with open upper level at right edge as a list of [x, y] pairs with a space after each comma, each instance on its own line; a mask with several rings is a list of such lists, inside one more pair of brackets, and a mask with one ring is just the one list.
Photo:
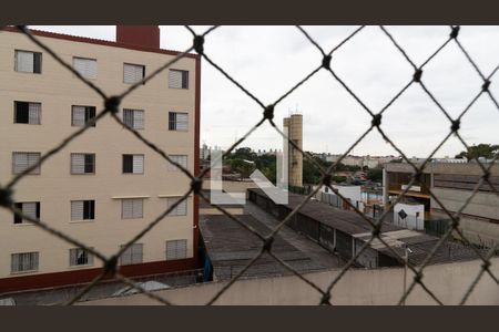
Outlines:
[[[413, 174], [414, 169], [407, 163], [385, 164], [384, 201], [387, 203], [390, 195], [400, 195], [407, 188]], [[430, 163], [425, 167], [421, 177], [425, 186], [415, 183], [406, 193], [406, 197], [411, 197], [425, 206], [425, 219], [430, 219], [429, 222], [431, 219], [449, 219], [427, 188], [431, 189], [448, 211], [457, 212], [472, 195], [481, 176], [482, 169], [476, 163]], [[490, 181], [498, 190], [499, 164], [492, 165]], [[499, 197], [487, 183], [480, 186], [462, 210], [460, 227], [467, 239], [476, 245], [493, 247], [499, 242]]]

